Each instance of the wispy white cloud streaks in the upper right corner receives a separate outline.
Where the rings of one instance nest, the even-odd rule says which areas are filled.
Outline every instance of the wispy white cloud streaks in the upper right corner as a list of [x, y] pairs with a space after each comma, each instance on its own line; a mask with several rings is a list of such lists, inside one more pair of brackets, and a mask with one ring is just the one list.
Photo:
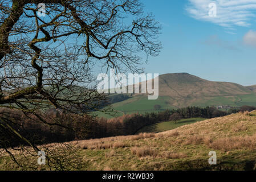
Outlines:
[[[194, 19], [205, 20], [222, 27], [249, 27], [256, 17], [256, 0], [188, 0], [186, 11]], [[216, 3], [217, 16], [209, 16], [209, 4]]]

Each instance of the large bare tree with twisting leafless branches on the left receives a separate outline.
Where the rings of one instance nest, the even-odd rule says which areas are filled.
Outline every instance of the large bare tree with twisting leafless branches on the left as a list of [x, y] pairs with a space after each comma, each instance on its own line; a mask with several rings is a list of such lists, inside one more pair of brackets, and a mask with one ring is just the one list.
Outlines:
[[68, 126], [49, 122], [47, 110], [88, 119], [104, 111], [105, 95], [92, 84], [95, 65], [140, 72], [142, 53], [160, 51], [159, 24], [142, 7], [138, 0], [0, 0], [0, 148], [14, 160], [14, 140], [40, 150], [20, 132], [19, 117], [11, 119], [15, 111], [60, 127]]

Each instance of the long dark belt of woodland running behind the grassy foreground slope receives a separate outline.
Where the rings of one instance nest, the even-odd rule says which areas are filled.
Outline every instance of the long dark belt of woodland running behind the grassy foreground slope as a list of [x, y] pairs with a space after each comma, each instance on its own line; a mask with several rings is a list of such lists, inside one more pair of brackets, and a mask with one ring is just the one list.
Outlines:
[[[37, 121], [34, 115], [25, 115], [22, 111], [5, 109], [5, 117], [13, 122], [13, 127], [19, 126], [19, 132], [34, 143], [66, 142], [70, 140], [82, 140], [90, 138], [113, 137], [117, 135], [132, 135], [144, 126], [164, 121], [176, 122], [184, 118], [214, 118], [222, 117], [239, 111], [253, 110], [255, 107], [242, 106], [240, 109], [232, 108], [221, 111], [215, 107], [184, 107], [181, 109], [164, 110], [145, 114], [125, 114], [117, 118], [90, 119], [80, 117], [77, 114], [65, 114], [61, 112], [48, 112], [44, 115], [47, 124]], [[2, 112], [3, 113], [3, 112]], [[42, 113], [38, 113], [42, 114]], [[1, 114], [0, 114], [1, 116]], [[34, 122], [31, 122], [34, 121]], [[36, 121], [36, 122], [35, 122]], [[61, 126], [56, 125], [59, 123]], [[51, 125], [52, 124], [52, 125]], [[18, 129], [18, 128], [17, 128]], [[3, 134], [2, 134], [3, 135]], [[2, 136], [10, 139], [13, 136]], [[22, 143], [21, 139], [13, 138], [11, 146]]]

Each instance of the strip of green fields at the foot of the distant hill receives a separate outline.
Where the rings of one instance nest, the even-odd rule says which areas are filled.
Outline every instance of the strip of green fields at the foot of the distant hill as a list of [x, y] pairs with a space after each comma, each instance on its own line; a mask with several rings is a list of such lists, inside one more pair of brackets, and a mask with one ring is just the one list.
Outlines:
[[[160, 105], [160, 110], [154, 109], [154, 105]], [[183, 97], [176, 99], [170, 96], [159, 96], [157, 100], [148, 100], [147, 96], [139, 94], [129, 98], [128, 100], [116, 102], [112, 107], [116, 110], [115, 117], [119, 117], [123, 114], [144, 114], [188, 106], [206, 107], [218, 105], [229, 105], [235, 107], [243, 105], [256, 106], [256, 93], [236, 96]], [[97, 112], [97, 114], [98, 117], [113, 118], [112, 115], [100, 112]]]

